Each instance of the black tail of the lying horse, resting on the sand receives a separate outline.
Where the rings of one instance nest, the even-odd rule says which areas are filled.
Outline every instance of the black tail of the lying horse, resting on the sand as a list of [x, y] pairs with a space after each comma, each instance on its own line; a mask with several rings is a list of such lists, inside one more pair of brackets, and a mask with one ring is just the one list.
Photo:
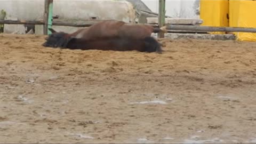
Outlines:
[[154, 37], [148, 36], [145, 37], [145, 51], [146, 52], [157, 52], [159, 54], [162, 53], [161, 44], [157, 42]]

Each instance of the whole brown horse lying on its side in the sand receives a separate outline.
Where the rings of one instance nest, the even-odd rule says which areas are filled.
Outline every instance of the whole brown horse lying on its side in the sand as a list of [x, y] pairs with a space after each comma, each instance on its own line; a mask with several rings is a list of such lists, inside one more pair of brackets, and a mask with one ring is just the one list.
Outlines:
[[[159, 43], [156, 40], [153, 40], [151, 37], [152, 33], [159, 33], [160, 31], [166, 32], [166, 29], [163, 28], [154, 28], [153, 26], [149, 25], [139, 25], [139, 24], [131, 24], [131, 23], [125, 23], [123, 21], [117, 21], [117, 20], [106, 20], [102, 22], [98, 22], [89, 28], [83, 28], [75, 31], [74, 33], [67, 34], [63, 32], [57, 32], [53, 29], [50, 29], [52, 31], [52, 35], [46, 38], [46, 42], [43, 44], [43, 46], [47, 47], [62, 47], [62, 48], [68, 48], [66, 47], [68, 43], [72, 42], [73, 46], [75, 46], [75, 43], [79, 45], [79, 49], [86, 50], [88, 49], [90, 45], [90, 49], [109, 49], [109, 50], [121, 50], [120, 46], [128, 47], [129, 49], [138, 49], [133, 48], [131, 46], [135, 46], [134, 44], [127, 44], [127, 43], [144, 43], [144, 45], [148, 46], [148, 41], [150, 39], [150, 44], [154, 43], [153, 45], [159, 45]], [[76, 40], [74, 40], [74, 38]], [[73, 39], [73, 41], [70, 41], [70, 39]], [[111, 40], [112, 39], [112, 40]], [[147, 40], [147, 42], [145, 41]], [[98, 42], [101, 42], [101, 44], [98, 44], [98, 46], [93, 46], [93, 44], [96, 44]], [[125, 44], [121, 44], [120, 42], [125, 42]], [[79, 44], [78, 44], [79, 42]], [[85, 42], [90, 43], [87, 44], [87, 46], [83, 46], [82, 44], [85, 44]], [[111, 44], [110, 44], [111, 43]], [[111, 46], [110, 46], [111, 45]], [[100, 46], [103, 46], [105, 48], [101, 48]], [[114, 46], [114, 47], [113, 47]], [[112, 47], [112, 48], [111, 48]], [[115, 48], [117, 47], [117, 48]], [[138, 47], [138, 46], [137, 46]], [[139, 46], [140, 50], [146, 50], [147, 48], [144, 48], [142, 46]], [[126, 48], [126, 49], [128, 49]], [[148, 48], [151, 49], [151, 48]], [[157, 52], [159, 52], [161, 49], [161, 46], [159, 48], [155, 48]], [[125, 49], [122, 49], [122, 51], [126, 51]]]

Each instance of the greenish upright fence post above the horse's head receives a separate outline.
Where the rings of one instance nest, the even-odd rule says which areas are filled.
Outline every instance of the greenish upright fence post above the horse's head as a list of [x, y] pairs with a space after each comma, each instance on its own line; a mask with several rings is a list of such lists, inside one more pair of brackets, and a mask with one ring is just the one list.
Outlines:
[[44, 35], [50, 35], [52, 28], [53, 0], [44, 1]]

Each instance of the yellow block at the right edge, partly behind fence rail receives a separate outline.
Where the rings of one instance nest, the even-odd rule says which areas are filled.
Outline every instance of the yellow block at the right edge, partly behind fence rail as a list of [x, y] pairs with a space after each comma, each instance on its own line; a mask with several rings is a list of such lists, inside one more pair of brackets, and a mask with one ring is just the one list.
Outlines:
[[[229, 1], [229, 26], [256, 28], [256, 1], [230, 0]], [[255, 33], [234, 33], [238, 41], [256, 42]]]

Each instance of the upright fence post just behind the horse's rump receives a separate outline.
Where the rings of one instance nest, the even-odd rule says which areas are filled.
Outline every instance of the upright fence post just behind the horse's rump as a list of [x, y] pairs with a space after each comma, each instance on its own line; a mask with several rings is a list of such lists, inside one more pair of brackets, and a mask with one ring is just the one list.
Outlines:
[[[159, 1], [158, 9], [158, 27], [161, 28], [165, 24], [165, 0]], [[164, 38], [164, 33], [158, 33], [158, 38]]]

